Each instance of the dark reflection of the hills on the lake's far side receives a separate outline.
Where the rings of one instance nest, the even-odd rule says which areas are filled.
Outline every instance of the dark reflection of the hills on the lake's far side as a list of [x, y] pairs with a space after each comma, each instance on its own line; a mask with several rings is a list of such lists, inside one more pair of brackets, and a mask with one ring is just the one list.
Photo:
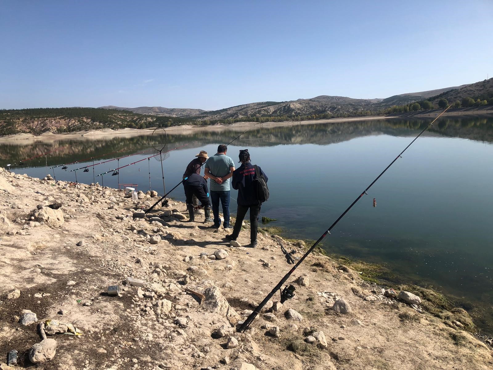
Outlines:
[[[236, 142], [236, 146], [276, 146], [286, 144], [316, 144], [329, 145], [353, 138], [387, 134], [392, 136], [414, 135], [429, 122], [429, 118], [366, 120], [352, 122], [332, 122], [320, 124], [304, 124], [276, 127], [257, 126], [246, 132]], [[493, 143], [493, 117], [463, 117], [444, 118], [429, 129], [450, 137], [466, 138]], [[211, 143], [228, 143], [238, 136], [238, 131], [186, 131], [174, 132], [168, 136], [169, 148], [176, 148], [187, 144], [188, 148], [196, 148]], [[0, 145], [0, 160], [2, 162], [16, 162], [41, 153], [68, 146], [48, 155], [48, 165], [73, 162], [81, 158], [100, 156], [108, 152], [123, 150], [121, 154], [112, 154], [101, 158], [115, 157], [131, 152], [152, 150], [149, 136], [130, 138], [110, 138], [101, 140], [67, 140], [50, 143], [8, 143]], [[185, 148], [187, 148], [185, 147]], [[149, 152], [150, 152], [149, 151]], [[43, 159], [44, 165], [44, 156]], [[4, 165], [5, 163], [1, 163]], [[33, 161], [32, 165], [40, 164], [40, 160]], [[28, 163], [27, 163], [28, 164]]]

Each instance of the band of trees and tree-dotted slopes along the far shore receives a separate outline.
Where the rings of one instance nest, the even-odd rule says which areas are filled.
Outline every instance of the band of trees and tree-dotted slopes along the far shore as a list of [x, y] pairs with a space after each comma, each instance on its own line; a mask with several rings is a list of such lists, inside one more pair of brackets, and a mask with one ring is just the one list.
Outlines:
[[[48, 130], [54, 132], [73, 132], [95, 128], [139, 128], [145, 129], [150, 127], [170, 127], [183, 124], [192, 124], [199, 126], [209, 126], [214, 124], [231, 124], [235, 122], [282, 122], [282, 121], [304, 121], [328, 118], [346, 118], [361, 117], [371, 115], [386, 115], [392, 113], [406, 113], [413, 111], [426, 111], [436, 108], [446, 108], [452, 104], [454, 108], [469, 108], [493, 106], [493, 94], [482, 94], [474, 97], [464, 97], [449, 103], [443, 97], [445, 93], [426, 100], [413, 102], [405, 105], [392, 106], [385, 109], [371, 110], [359, 109], [354, 111], [342, 111], [337, 107], [332, 107], [332, 112], [320, 111], [312, 114], [283, 114], [276, 116], [238, 116], [210, 119], [200, 116], [189, 117], [170, 117], [154, 116], [131, 111], [120, 111], [102, 108], [34, 108], [22, 110], [0, 110], [0, 135], [15, 134], [18, 132], [31, 132], [39, 134]], [[438, 107], [432, 103], [438, 99]], [[267, 102], [274, 104], [276, 102]], [[67, 119], [68, 124], [58, 124], [49, 126], [49, 119]], [[45, 124], [33, 124], [36, 120], [44, 120]], [[26, 123], [26, 124], [23, 124]], [[31, 123], [31, 124], [30, 124]], [[24, 126], [24, 128], [20, 127]]]

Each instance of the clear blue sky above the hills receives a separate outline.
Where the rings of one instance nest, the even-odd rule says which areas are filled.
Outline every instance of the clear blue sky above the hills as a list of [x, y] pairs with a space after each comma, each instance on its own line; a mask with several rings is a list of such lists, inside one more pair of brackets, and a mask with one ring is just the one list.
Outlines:
[[0, 108], [220, 109], [493, 76], [493, 1], [0, 1]]

